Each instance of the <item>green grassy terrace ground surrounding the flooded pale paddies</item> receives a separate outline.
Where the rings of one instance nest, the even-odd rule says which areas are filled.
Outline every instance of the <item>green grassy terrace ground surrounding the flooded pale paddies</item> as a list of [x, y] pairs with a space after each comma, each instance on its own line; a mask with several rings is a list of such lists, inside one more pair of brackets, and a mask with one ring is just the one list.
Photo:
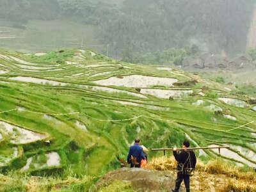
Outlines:
[[[40, 113], [79, 112], [79, 114], [73, 115], [49, 115], [52, 118], [45, 118], [42, 114], [26, 111], [0, 113], [0, 120], [3, 122], [9, 122], [31, 131], [47, 132], [53, 139], [50, 146], [45, 145], [42, 141], [19, 145], [23, 148], [22, 156], [20, 159], [13, 159], [10, 165], [3, 167], [1, 169], [3, 173], [9, 170], [19, 171], [31, 156], [54, 151], [61, 156], [59, 167], [47, 167], [40, 170], [32, 166], [29, 168], [29, 172], [34, 175], [42, 175], [44, 173], [56, 173], [58, 170], [63, 177], [70, 172], [81, 176], [99, 175], [113, 168], [118, 168], [120, 166], [118, 159], [125, 159], [129, 145], [137, 137], [141, 138], [143, 145], [148, 148], [179, 146], [187, 135], [193, 146], [232, 144], [235, 146], [232, 147], [234, 152], [237, 152], [236, 147], [244, 147], [256, 153], [254, 146], [256, 139], [253, 135], [256, 132], [255, 122], [247, 127], [227, 132], [229, 129], [255, 120], [255, 111], [250, 109], [252, 106], [250, 108], [238, 108], [218, 100], [218, 97], [245, 100], [243, 95], [232, 95], [221, 84], [175, 69], [170, 72], [157, 70], [154, 66], [144, 67], [118, 63], [100, 54], [92, 56], [90, 51], [84, 51], [84, 53], [76, 50], [55, 51], [48, 52], [44, 56], [34, 56], [1, 50], [0, 54], [2, 55], [0, 57], [0, 70], [8, 70], [6, 74], [1, 74], [0, 77], [0, 111], [22, 107]], [[9, 58], [3, 58], [3, 55], [9, 56]], [[15, 61], [10, 56], [33, 64], [22, 64], [20, 63], [22, 61]], [[83, 60], [76, 61], [72, 58], [73, 56], [81, 56]], [[67, 60], [77, 63], [68, 65], [65, 62]], [[102, 65], [102, 67], [92, 67], [93, 64]], [[27, 67], [41, 68], [29, 71], [26, 70]], [[42, 67], [51, 69], [42, 69]], [[100, 72], [111, 72], [111, 74], [93, 76]], [[81, 75], [77, 76], [77, 74]], [[96, 85], [92, 83], [94, 80], [132, 74], [175, 77], [180, 82], [196, 79], [198, 83], [186, 87], [155, 87], [164, 90], [193, 90], [192, 95], [173, 101], [142, 93], [139, 94], [146, 97], [136, 97], [129, 94], [138, 93], [134, 88], [124, 86], [102, 87], [115, 88], [116, 91], [125, 90], [128, 93], [103, 92], [93, 89]], [[36, 84], [10, 79], [10, 77], [17, 76], [37, 77], [67, 84], [65, 86], [52, 86], [50, 83]], [[97, 84], [97, 86], [101, 85]], [[209, 90], [204, 90], [204, 86], [207, 86]], [[205, 96], [199, 95], [199, 92], [204, 92]], [[193, 105], [192, 103], [198, 99], [205, 100], [205, 104]], [[132, 106], [116, 101], [143, 105]], [[237, 120], [229, 120], [222, 115], [215, 114], [205, 108], [209, 104], [216, 104], [223, 109], [229, 109], [228, 113], [236, 116]], [[121, 122], [97, 120], [122, 120], [138, 115], [143, 116]], [[77, 121], [85, 125], [87, 131], [77, 126]], [[138, 131], [138, 127], [140, 127], [140, 131]], [[6, 145], [10, 144], [7, 143], [1, 147], [4, 148]], [[217, 155], [211, 150], [205, 152], [207, 154], [201, 156], [201, 159], [207, 160]], [[8, 154], [8, 152], [1, 153], [0, 151], [0, 156], [4, 156], [4, 153]], [[160, 152], [149, 152], [149, 156], [161, 155]], [[243, 159], [256, 164], [255, 159], [250, 159], [243, 154], [240, 155]], [[230, 160], [243, 163], [237, 159]]]

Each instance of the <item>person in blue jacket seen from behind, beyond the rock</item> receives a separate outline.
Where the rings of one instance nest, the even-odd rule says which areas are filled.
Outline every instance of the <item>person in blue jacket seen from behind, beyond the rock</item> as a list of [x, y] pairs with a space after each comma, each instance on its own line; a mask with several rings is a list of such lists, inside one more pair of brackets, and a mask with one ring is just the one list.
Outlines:
[[131, 163], [131, 168], [140, 168], [141, 159], [145, 159], [145, 156], [143, 154], [143, 149], [140, 146], [140, 139], [136, 139], [134, 145], [132, 145], [129, 149], [127, 163]]

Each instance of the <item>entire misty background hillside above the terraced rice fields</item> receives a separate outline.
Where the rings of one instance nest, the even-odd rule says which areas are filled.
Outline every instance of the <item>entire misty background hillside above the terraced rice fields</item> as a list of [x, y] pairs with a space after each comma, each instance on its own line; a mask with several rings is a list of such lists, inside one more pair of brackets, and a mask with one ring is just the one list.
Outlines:
[[0, 37], [16, 38], [1, 40], [0, 46], [51, 51], [83, 44], [107, 54], [109, 45], [109, 55], [130, 62], [148, 52], [191, 45], [234, 56], [254, 46], [254, 4], [253, 0], [1, 0]]

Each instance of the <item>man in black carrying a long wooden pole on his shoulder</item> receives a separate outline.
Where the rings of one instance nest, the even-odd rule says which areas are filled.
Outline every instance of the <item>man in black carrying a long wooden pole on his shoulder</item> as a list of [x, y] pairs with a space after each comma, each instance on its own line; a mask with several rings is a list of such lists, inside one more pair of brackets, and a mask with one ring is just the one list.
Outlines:
[[177, 154], [177, 148], [173, 148], [173, 156], [176, 161], [178, 161], [177, 166], [177, 179], [175, 182], [175, 189], [172, 189], [173, 192], [178, 192], [180, 189], [180, 184], [184, 180], [186, 186], [186, 192], [189, 192], [189, 176], [191, 176], [191, 170], [195, 169], [196, 166], [196, 156], [192, 150], [186, 150], [189, 147], [189, 141], [183, 141], [184, 150]]

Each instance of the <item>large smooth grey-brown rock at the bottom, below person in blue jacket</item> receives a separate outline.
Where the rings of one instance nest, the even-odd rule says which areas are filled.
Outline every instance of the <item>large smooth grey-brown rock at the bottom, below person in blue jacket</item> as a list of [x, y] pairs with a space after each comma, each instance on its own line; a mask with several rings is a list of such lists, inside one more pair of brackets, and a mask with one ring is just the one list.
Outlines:
[[[109, 172], [100, 179], [96, 187], [97, 189], [108, 186], [115, 180], [124, 180], [131, 182], [132, 188], [136, 191], [169, 191], [175, 187], [176, 175], [170, 172], [160, 172], [152, 170], [144, 170], [139, 168], [121, 168], [113, 172]], [[180, 186], [180, 192], [185, 191]]]

